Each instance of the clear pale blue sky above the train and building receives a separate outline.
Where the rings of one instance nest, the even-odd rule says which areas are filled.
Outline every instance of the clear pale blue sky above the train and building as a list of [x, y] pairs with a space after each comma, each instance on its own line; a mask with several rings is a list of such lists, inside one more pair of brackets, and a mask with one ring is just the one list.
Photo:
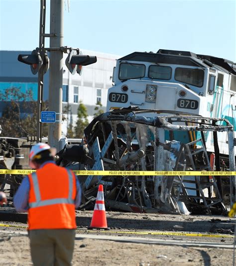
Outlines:
[[[118, 56], [182, 50], [236, 62], [236, 0], [64, 3], [64, 45], [69, 47]], [[46, 10], [45, 32], [49, 33], [50, 0], [46, 0]], [[40, 0], [0, 0], [0, 50], [35, 49], [39, 15]]]

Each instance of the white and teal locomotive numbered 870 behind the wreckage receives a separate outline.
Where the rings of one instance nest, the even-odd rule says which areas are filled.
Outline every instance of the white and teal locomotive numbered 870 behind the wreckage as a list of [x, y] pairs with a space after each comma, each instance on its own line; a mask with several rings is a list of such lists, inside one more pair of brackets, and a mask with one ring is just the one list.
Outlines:
[[[134, 105], [162, 114], [226, 118], [236, 125], [236, 63], [229, 60], [185, 51], [134, 52], [117, 60], [113, 83], [107, 110]], [[182, 143], [201, 138], [199, 132], [174, 134]], [[220, 154], [228, 155], [227, 133], [220, 135]], [[213, 133], [204, 132], [204, 138], [207, 151], [214, 151]]]

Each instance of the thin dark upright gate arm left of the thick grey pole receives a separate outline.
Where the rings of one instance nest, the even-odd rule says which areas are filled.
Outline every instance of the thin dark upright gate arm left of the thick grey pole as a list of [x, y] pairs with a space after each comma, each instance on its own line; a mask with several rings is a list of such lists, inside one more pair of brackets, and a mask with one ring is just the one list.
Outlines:
[[[46, 19], [46, 0], [40, 1], [40, 26], [39, 26], [39, 52], [42, 60], [44, 60], [45, 54], [45, 19]], [[44, 64], [38, 72], [38, 98], [37, 98], [37, 142], [42, 141], [42, 123], [40, 122], [40, 114], [43, 104], [43, 76], [44, 76]]]

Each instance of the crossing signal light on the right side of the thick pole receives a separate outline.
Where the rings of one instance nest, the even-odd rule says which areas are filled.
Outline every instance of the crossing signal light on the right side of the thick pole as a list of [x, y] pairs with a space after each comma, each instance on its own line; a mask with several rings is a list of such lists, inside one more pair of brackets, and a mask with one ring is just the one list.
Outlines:
[[66, 66], [72, 75], [75, 75], [76, 72], [81, 75], [83, 66], [88, 66], [96, 62], [96, 56], [83, 55], [81, 52], [77, 54], [76, 50], [72, 50], [66, 58]]

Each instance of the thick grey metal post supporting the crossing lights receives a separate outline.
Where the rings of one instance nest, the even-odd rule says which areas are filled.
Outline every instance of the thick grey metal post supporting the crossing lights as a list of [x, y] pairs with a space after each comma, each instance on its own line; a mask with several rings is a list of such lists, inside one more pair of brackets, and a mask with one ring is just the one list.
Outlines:
[[[50, 2], [50, 48], [63, 46], [63, 3], [64, 0], [51, 0]], [[59, 117], [56, 120], [59, 121], [49, 124], [48, 143], [57, 150], [60, 148], [62, 128], [62, 77], [63, 52], [52, 50], [50, 51], [49, 111], [58, 113]]]

